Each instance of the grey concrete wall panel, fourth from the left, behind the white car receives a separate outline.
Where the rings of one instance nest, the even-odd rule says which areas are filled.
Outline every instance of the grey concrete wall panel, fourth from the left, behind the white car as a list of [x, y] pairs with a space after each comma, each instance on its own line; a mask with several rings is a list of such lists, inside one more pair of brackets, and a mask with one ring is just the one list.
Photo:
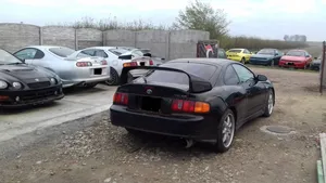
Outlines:
[[104, 45], [136, 47], [136, 32], [129, 30], [108, 30], [103, 32]]

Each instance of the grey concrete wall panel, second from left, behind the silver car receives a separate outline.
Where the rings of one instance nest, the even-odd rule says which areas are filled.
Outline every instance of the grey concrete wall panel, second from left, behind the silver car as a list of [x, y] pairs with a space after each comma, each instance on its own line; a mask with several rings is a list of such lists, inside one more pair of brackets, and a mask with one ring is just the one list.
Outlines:
[[76, 49], [76, 30], [71, 27], [46, 26], [41, 28], [43, 45], [62, 45]]

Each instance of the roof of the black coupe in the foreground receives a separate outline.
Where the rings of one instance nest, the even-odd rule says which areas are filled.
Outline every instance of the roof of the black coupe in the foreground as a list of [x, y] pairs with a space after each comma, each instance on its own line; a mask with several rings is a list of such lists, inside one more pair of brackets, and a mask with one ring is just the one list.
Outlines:
[[210, 64], [215, 66], [225, 66], [231, 63], [239, 63], [239, 62], [235, 62], [226, 58], [196, 57], [196, 58], [177, 58], [177, 60], [172, 60], [166, 64], [168, 63], [198, 63], [198, 64]]

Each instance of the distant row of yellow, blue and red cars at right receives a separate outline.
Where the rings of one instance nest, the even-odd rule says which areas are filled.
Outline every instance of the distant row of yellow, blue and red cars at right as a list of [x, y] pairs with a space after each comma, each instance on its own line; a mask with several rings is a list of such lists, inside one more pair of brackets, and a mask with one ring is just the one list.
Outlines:
[[226, 52], [227, 58], [242, 64], [269, 65], [279, 67], [292, 67], [302, 69], [319, 69], [321, 57], [315, 57], [305, 50], [290, 50], [283, 53], [277, 49], [262, 49], [255, 54], [247, 49], [230, 49]]

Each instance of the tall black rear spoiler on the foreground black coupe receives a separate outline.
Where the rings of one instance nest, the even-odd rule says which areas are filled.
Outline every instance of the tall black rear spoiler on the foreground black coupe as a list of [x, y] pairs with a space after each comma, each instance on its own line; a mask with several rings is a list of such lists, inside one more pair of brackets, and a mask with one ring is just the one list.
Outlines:
[[210, 81], [202, 79], [198, 76], [190, 75], [184, 70], [168, 67], [156, 67], [156, 66], [131, 66], [124, 67], [121, 75], [121, 84], [128, 82], [128, 73], [133, 69], [148, 69], [148, 70], [165, 70], [165, 71], [176, 71], [188, 76], [189, 78], [189, 92], [190, 93], [201, 93], [212, 90], [212, 84]]

